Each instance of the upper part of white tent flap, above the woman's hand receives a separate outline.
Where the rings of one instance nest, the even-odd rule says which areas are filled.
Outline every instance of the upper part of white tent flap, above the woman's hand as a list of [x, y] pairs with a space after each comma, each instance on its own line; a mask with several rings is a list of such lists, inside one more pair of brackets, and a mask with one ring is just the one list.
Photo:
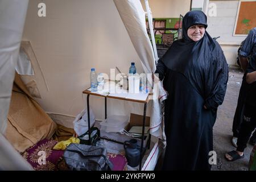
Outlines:
[[118, 13], [130, 36], [131, 43], [141, 59], [144, 72], [152, 73], [155, 70], [154, 52], [147, 35], [145, 12], [140, 1], [114, 0]]

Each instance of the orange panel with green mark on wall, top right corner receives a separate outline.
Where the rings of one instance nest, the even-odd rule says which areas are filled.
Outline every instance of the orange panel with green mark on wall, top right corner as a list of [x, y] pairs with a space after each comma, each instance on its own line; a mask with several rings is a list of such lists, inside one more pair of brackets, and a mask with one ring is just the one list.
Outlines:
[[234, 35], [247, 35], [256, 27], [256, 1], [240, 1]]

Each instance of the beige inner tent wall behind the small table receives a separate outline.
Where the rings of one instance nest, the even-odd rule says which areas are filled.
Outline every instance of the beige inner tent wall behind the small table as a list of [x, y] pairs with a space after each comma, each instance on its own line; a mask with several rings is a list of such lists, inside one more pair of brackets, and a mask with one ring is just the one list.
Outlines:
[[[112, 0], [46, 0], [46, 17], [38, 16], [40, 0], [30, 1], [23, 40], [30, 40], [49, 87], [37, 80], [43, 109], [77, 115], [85, 106], [82, 90], [90, 86], [90, 68], [128, 72], [141, 64]], [[104, 118], [104, 99], [91, 96], [97, 118]], [[119, 104], [120, 106], [118, 106]], [[117, 105], [117, 107], [115, 107]], [[138, 113], [138, 104], [109, 101], [108, 113]], [[141, 111], [141, 112], [140, 112]]]

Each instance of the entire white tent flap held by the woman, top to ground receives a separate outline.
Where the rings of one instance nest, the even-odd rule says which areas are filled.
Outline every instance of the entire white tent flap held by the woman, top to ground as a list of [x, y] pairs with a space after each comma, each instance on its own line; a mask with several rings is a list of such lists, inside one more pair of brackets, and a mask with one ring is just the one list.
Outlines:
[[[136, 0], [113, 0], [117, 7], [118, 13], [121, 16], [123, 24], [130, 36], [131, 42], [141, 59], [144, 73], [154, 73], [156, 70], [154, 52], [150, 39], [146, 30], [145, 12], [140, 1]], [[149, 78], [150, 80], [150, 78]], [[158, 160], [162, 148], [166, 145], [165, 134], [163, 129], [163, 100], [167, 98], [167, 93], [163, 89], [162, 83], [155, 82], [154, 92], [159, 93], [159, 97], [152, 100], [151, 116], [150, 116], [150, 134], [162, 139], [155, 143], [153, 150], [150, 152], [150, 157], [144, 163], [143, 170], [154, 170], [156, 160]], [[158, 94], [156, 94], [158, 96]], [[161, 144], [160, 144], [161, 143]]]

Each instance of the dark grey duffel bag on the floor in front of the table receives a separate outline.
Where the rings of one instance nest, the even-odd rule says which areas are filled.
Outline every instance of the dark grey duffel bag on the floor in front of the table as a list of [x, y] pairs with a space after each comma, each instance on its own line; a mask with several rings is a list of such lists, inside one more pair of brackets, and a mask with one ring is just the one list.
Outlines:
[[108, 171], [113, 168], [104, 147], [71, 143], [63, 158], [68, 167], [75, 171]]

